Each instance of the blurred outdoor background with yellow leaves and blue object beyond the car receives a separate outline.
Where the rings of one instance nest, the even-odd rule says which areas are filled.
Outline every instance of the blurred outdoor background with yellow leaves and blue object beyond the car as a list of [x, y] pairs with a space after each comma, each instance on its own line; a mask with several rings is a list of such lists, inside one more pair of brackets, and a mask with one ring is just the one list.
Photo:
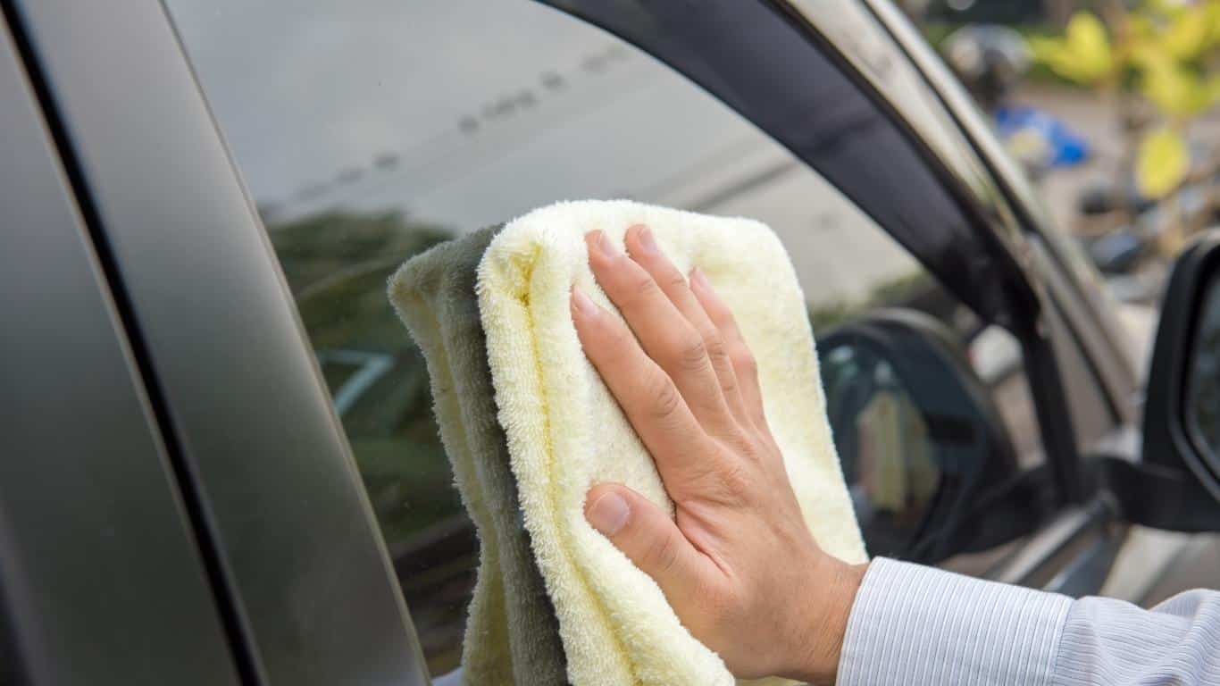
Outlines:
[[1220, 2], [905, 0], [1115, 295], [1216, 214]]

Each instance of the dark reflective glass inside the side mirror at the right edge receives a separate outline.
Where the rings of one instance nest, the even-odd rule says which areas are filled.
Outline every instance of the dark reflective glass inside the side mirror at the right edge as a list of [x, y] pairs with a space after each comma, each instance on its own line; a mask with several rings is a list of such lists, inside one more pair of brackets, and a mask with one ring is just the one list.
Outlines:
[[1198, 449], [1220, 455], [1220, 272], [1203, 294], [1186, 375], [1186, 422]]

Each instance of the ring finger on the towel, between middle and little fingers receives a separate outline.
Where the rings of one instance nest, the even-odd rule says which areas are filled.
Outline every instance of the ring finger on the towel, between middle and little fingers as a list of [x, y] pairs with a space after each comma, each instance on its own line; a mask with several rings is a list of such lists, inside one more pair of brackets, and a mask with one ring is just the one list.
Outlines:
[[737, 375], [728, 359], [725, 339], [716, 325], [708, 317], [708, 312], [704, 311], [694, 293], [691, 292], [686, 276], [661, 253], [653, 232], [647, 226], [636, 225], [628, 228], [626, 243], [631, 259], [644, 267], [644, 271], [653, 277], [653, 281], [673, 303], [678, 312], [699, 332], [728, 409], [739, 420], [744, 420], [745, 404], [737, 387]]

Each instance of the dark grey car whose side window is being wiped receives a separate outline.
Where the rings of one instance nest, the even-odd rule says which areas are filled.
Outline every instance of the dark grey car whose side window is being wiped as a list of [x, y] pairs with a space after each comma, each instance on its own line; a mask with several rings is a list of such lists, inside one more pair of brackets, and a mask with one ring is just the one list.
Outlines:
[[1220, 239], [1153, 345], [887, 0], [0, 7], [0, 684], [460, 679], [386, 280], [575, 198], [776, 231], [871, 554], [1216, 582]]

